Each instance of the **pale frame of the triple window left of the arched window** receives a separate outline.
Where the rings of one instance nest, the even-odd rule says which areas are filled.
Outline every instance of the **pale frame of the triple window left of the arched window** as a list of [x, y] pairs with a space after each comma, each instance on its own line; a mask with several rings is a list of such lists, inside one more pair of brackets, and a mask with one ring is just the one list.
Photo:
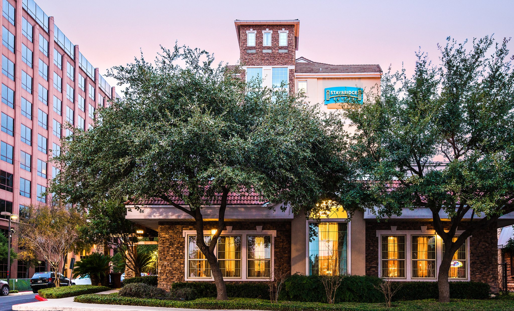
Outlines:
[[[184, 247], [185, 247], [185, 255], [184, 255], [184, 278], [185, 281], [207, 281], [211, 282], [214, 280], [212, 277], [210, 278], [194, 278], [188, 276], [188, 247], [189, 247], [189, 236], [196, 235], [196, 230], [183, 230], [182, 237], [184, 238]], [[210, 230], [204, 230], [204, 235], [212, 235]], [[238, 235], [241, 236], [241, 277], [238, 278], [223, 278], [224, 280], [237, 280], [237, 281], [269, 281], [269, 278], [248, 278], [248, 235], [270, 235], [271, 236], [271, 273], [274, 267], [274, 250], [275, 250], [275, 238], [277, 237], [277, 230], [223, 230], [221, 235], [229, 236], [229, 235]], [[214, 253], [217, 254], [218, 245], [216, 243], [216, 247], [214, 248]], [[217, 256], [216, 256], [217, 257]]]

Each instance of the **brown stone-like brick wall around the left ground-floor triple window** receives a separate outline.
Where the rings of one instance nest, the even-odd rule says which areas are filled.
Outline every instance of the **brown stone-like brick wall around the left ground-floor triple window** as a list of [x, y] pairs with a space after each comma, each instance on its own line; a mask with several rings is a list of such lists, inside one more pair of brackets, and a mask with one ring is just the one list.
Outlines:
[[[291, 271], [291, 223], [290, 222], [227, 222], [232, 230], [255, 230], [255, 226], [263, 226], [263, 230], [276, 230], [274, 238], [274, 268], [280, 271]], [[204, 229], [215, 229], [216, 222], [206, 222]], [[184, 281], [186, 240], [183, 230], [195, 230], [192, 222], [159, 223], [158, 246], [158, 286], [169, 290], [174, 282]], [[244, 251], [244, 250], [243, 250]], [[232, 281], [237, 282], [237, 281]]]

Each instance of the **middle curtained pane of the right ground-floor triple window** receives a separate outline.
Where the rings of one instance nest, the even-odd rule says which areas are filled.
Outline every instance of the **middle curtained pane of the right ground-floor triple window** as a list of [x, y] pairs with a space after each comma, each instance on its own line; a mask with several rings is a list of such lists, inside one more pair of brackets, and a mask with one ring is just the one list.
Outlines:
[[435, 278], [435, 235], [412, 236], [412, 277]]

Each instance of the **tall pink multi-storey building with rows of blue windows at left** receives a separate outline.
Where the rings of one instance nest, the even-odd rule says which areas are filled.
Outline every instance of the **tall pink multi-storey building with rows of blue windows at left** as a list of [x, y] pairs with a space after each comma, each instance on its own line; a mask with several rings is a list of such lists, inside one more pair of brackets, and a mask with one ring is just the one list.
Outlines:
[[[33, 0], [3, 0], [2, 15], [0, 211], [24, 217], [27, 206], [50, 203], [44, 193], [59, 170], [49, 160], [70, 133], [64, 125], [87, 130], [95, 110], [118, 95]], [[0, 219], [6, 235], [7, 222]], [[45, 269], [43, 262], [35, 267]], [[12, 261], [11, 278], [33, 272]], [[0, 278], [6, 276], [0, 262]]]

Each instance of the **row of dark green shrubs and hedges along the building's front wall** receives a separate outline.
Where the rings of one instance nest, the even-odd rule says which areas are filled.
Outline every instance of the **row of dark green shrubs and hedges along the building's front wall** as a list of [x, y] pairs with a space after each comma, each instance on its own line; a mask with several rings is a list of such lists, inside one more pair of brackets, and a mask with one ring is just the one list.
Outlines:
[[[383, 302], [382, 293], [376, 285], [382, 282], [376, 277], [348, 276], [343, 279], [336, 292], [339, 302]], [[437, 299], [437, 282], [398, 282], [401, 288], [393, 300]], [[227, 295], [231, 298], [269, 299], [267, 282], [226, 283]], [[216, 297], [216, 286], [209, 282], [175, 282], [171, 290], [191, 288], [197, 298]], [[489, 284], [481, 282], [450, 282], [450, 298], [485, 299], [489, 297]], [[302, 302], [326, 302], [323, 284], [318, 276], [292, 275], [284, 282], [280, 300]]]

